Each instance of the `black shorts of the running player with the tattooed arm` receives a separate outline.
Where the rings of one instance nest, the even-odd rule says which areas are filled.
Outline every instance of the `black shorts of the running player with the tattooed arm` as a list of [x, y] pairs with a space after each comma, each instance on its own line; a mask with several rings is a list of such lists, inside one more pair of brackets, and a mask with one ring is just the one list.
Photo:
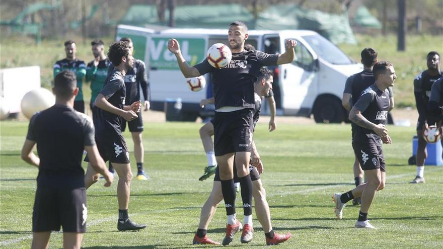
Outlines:
[[355, 137], [352, 148], [363, 171], [380, 169], [381, 172], [386, 172], [385, 155], [380, 138]]

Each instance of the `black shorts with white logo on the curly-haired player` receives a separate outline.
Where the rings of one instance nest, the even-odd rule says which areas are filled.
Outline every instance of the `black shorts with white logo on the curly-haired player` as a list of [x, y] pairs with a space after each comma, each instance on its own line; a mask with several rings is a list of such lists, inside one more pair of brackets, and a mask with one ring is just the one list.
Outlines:
[[[100, 156], [105, 162], [129, 163], [129, 150], [121, 133], [97, 133], [95, 140]], [[86, 155], [85, 161], [89, 162], [88, 155]]]

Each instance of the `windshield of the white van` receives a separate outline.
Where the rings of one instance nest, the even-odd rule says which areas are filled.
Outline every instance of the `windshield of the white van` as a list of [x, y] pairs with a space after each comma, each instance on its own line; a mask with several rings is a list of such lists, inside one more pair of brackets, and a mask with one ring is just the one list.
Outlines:
[[303, 39], [314, 49], [319, 57], [331, 64], [348, 65], [354, 62], [338, 47], [320, 35], [307, 35]]

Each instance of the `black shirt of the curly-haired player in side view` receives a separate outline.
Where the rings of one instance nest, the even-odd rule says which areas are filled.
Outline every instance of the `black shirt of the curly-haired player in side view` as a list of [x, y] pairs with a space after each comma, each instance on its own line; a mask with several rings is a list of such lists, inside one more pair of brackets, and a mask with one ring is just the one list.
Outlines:
[[[126, 87], [124, 84], [124, 77], [120, 71], [112, 71], [105, 80], [102, 91], [100, 93], [105, 96], [108, 102], [123, 110], [125, 104]], [[117, 132], [121, 133], [122, 117], [101, 108], [97, 108], [94, 120], [97, 133]]]

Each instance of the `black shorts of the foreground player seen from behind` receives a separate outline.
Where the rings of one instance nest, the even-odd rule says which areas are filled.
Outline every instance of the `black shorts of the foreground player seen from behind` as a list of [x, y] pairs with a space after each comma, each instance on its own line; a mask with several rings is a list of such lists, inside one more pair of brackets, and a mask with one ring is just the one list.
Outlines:
[[32, 231], [86, 232], [86, 189], [38, 186], [32, 213]]

